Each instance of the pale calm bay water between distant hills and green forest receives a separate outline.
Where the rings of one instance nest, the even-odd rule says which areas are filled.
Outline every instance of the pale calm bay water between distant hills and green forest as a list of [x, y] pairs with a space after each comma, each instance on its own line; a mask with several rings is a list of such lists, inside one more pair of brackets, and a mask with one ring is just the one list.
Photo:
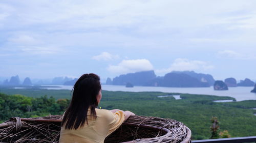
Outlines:
[[[69, 85], [47, 85], [58, 86], [58, 88], [47, 87], [46, 89], [67, 89], [72, 90], [73, 86]], [[189, 94], [204, 94], [217, 96], [230, 96], [236, 98], [237, 101], [256, 100], [256, 94], [250, 93], [253, 87], [230, 87], [228, 91], [215, 91], [212, 87], [209, 88], [167, 88], [167, 87], [141, 87], [134, 86], [133, 88], [125, 88], [121, 85], [103, 85], [102, 90], [106, 91], [128, 91], [128, 92], [166, 92], [166, 93], [189, 93]]]

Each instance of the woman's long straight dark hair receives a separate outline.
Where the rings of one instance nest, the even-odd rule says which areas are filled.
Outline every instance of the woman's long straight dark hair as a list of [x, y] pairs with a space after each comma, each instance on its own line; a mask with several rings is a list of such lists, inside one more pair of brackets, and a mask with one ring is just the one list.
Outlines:
[[[71, 103], [65, 112], [61, 126], [65, 129], [77, 129], [87, 121], [90, 107], [91, 117], [97, 118], [95, 108], [98, 106], [97, 95], [101, 90], [100, 78], [90, 73], [83, 74], [75, 83]], [[88, 124], [88, 121], [87, 121]]]

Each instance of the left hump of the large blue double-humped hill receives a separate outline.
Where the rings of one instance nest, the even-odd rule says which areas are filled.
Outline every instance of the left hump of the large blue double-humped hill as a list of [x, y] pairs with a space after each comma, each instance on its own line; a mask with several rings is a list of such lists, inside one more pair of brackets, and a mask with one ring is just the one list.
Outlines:
[[122, 74], [115, 77], [112, 81], [113, 85], [126, 85], [130, 82], [133, 85], [146, 85], [146, 83], [152, 79], [156, 78], [155, 72], [152, 71], [142, 71], [136, 73]]

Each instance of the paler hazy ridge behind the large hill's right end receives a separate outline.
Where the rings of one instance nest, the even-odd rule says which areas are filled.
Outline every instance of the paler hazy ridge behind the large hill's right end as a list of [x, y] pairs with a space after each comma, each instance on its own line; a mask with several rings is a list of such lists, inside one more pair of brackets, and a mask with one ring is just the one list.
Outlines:
[[196, 73], [194, 71], [173, 71], [172, 73], [183, 73], [191, 77], [197, 78], [201, 82], [208, 82], [209, 85], [214, 85], [215, 79], [210, 74]]

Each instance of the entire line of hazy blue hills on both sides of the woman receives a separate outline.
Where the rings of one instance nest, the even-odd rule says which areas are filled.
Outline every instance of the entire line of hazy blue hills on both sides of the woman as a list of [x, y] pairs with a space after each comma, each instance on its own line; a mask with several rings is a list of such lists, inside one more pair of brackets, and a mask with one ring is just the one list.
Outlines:
[[[2, 77], [3, 78], [3, 77]], [[2, 79], [3, 81], [3, 79]], [[33, 79], [26, 77], [23, 82], [20, 81], [19, 76], [12, 76], [10, 80], [5, 79], [3, 85], [33, 85], [33, 84], [63, 84], [74, 85], [77, 78], [70, 77], [55, 77], [53, 79]], [[127, 83], [135, 86], [150, 86], [150, 87], [210, 87], [215, 84], [215, 79], [210, 74], [196, 73], [194, 71], [173, 71], [165, 74], [164, 76], [156, 76], [153, 70], [141, 71], [135, 73], [121, 74], [113, 78], [107, 78], [105, 84], [110, 85], [127, 85]], [[218, 81], [218, 85], [222, 85]], [[224, 84], [227, 87], [253, 87], [255, 82], [248, 78], [241, 80], [237, 83], [237, 80], [233, 77], [226, 78]], [[224, 85], [223, 84], [223, 85]]]

